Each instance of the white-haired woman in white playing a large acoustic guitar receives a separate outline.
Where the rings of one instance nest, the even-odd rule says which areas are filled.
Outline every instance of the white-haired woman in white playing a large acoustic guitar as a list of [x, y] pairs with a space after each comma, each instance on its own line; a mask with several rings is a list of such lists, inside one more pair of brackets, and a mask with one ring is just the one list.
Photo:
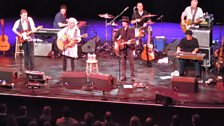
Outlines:
[[78, 58], [78, 45], [81, 41], [80, 29], [77, 26], [78, 21], [75, 18], [68, 19], [68, 26], [58, 32], [58, 39], [64, 42], [63, 71], [67, 69], [67, 59], [71, 59], [71, 70], [75, 70], [74, 60]]

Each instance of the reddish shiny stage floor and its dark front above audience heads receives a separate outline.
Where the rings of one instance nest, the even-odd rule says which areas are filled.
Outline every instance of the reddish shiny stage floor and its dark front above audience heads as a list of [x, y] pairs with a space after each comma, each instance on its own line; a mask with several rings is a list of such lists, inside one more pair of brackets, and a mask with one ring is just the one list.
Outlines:
[[[163, 56], [158, 57], [164, 58]], [[76, 71], [85, 71], [86, 59], [83, 55], [82, 58], [76, 60]], [[21, 71], [20, 57], [15, 59], [12, 56], [1, 56], [0, 60], [1, 67], [15, 68], [18, 72]], [[190, 116], [194, 113], [203, 115], [202, 120], [205, 120], [205, 122], [214, 119], [215, 122], [211, 122], [212, 124], [222, 124], [223, 82], [217, 82], [216, 84], [201, 83], [196, 93], [175, 92], [172, 90], [170, 78], [173, 65], [155, 61], [153, 67], [148, 67], [145, 61], [136, 58], [135, 83], [142, 83], [145, 85], [144, 87], [131, 88], [133, 82], [130, 81], [130, 75], [127, 74], [127, 81], [117, 83], [112, 90], [105, 92], [98, 89], [84, 90], [81, 86], [74, 87], [75, 82], [73, 84], [62, 83], [60, 79], [62, 58], [36, 56], [34, 60], [34, 70], [44, 72], [51, 79], [48, 83], [41, 85], [40, 88], [27, 88], [26, 78], [23, 75], [22, 78], [15, 80], [14, 88], [0, 87], [0, 101], [9, 105], [11, 113], [15, 112], [20, 105], [25, 104], [31, 110], [35, 110], [31, 115], [38, 115], [37, 110], [41, 110], [42, 106], [51, 105], [57, 113], [56, 117], [58, 117], [61, 108], [68, 105], [74, 108], [75, 117], [78, 120], [82, 119], [82, 113], [86, 111], [91, 111], [99, 117], [105, 111], [111, 110], [115, 116], [114, 120], [118, 120], [124, 126], [128, 124], [131, 115], [138, 115], [143, 119], [151, 115], [158, 124], [166, 125], [175, 113], [179, 113], [185, 118], [183, 122], [186, 122], [186, 124], [189, 124]], [[119, 79], [118, 57], [111, 55], [108, 51], [102, 51], [97, 53], [97, 60], [100, 73], [109, 74]], [[129, 73], [129, 67], [127, 68], [127, 73]], [[70, 70], [70, 65], [68, 70]], [[189, 75], [192, 75], [192, 72], [189, 71]], [[208, 77], [212, 76], [214, 75], [208, 74]], [[172, 99], [172, 101], [169, 99]], [[98, 119], [101, 120], [102, 118]]]

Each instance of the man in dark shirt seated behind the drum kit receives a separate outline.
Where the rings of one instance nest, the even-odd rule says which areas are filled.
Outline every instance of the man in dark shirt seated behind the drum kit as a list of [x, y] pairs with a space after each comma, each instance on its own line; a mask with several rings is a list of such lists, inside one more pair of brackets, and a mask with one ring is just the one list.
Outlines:
[[148, 42], [151, 42], [151, 27], [147, 27], [148, 24], [151, 23], [150, 15], [144, 10], [144, 6], [141, 2], [137, 3], [137, 10], [135, 9], [136, 8], [134, 7], [131, 20], [131, 24], [134, 24], [136, 28], [135, 37], [144, 37], [144, 32], [148, 31]]

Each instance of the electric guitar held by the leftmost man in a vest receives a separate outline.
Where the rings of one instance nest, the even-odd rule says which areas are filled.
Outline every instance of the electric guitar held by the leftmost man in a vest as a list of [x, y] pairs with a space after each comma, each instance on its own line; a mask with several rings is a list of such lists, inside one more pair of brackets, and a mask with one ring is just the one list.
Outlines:
[[34, 32], [37, 31], [37, 30], [40, 30], [40, 29], [42, 29], [42, 28], [43, 28], [43, 26], [38, 26], [37, 28], [35, 28], [35, 29], [32, 30], [32, 31], [27, 31], [27, 30], [26, 30], [26, 31], [22, 31], [22, 32], [20, 32], [20, 34], [21, 34], [22, 36], [17, 36], [17, 40], [18, 40], [18, 42], [19, 42], [19, 43], [24, 43], [25, 41], [28, 40], [30, 34], [34, 33]]

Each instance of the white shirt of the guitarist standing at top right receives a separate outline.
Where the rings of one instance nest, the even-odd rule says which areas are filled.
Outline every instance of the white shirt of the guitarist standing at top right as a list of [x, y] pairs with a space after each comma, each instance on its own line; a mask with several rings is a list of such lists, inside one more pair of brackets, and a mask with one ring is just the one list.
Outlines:
[[[184, 12], [182, 12], [182, 15], [186, 16], [186, 19], [187, 20], [189, 20], [189, 19], [192, 20], [193, 19], [194, 12], [195, 12], [195, 10], [192, 10], [191, 9], [191, 6], [188, 6], [184, 10]], [[197, 10], [197, 12], [195, 14], [194, 21], [196, 21], [197, 19], [202, 18], [202, 17], [203, 17], [203, 11], [202, 11], [202, 9], [200, 7], [198, 7], [198, 10]]]

